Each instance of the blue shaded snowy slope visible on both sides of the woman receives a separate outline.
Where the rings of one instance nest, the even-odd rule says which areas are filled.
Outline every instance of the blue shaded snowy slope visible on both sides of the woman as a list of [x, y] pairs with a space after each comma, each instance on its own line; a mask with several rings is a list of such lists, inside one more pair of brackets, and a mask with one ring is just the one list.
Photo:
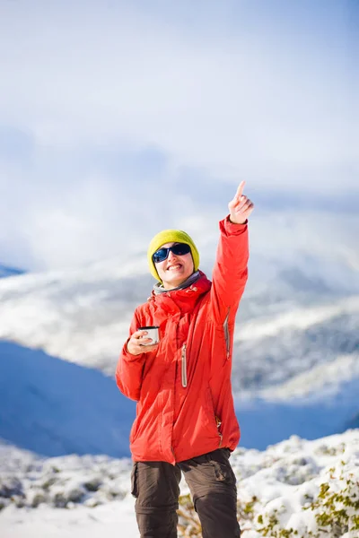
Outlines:
[[[0, 343], [0, 357], [0, 438], [45, 456], [129, 456], [136, 404], [113, 377], [13, 343]], [[353, 378], [311, 398], [236, 398], [241, 447], [342, 431], [357, 412], [358, 393]]]

